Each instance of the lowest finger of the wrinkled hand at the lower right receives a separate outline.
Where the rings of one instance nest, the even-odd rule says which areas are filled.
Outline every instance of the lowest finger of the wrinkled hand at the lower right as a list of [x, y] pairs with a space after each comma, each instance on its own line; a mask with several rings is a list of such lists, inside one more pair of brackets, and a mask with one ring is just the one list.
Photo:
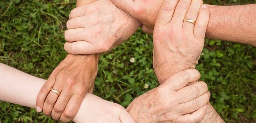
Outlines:
[[197, 123], [203, 119], [206, 114], [207, 105], [199, 108], [191, 114], [185, 114], [177, 118], [177, 122], [181, 123]]

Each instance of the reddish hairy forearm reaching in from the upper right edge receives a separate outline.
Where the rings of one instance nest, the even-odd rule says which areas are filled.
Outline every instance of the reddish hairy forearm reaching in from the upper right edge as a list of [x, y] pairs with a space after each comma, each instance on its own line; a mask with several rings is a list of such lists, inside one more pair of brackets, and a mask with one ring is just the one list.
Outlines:
[[238, 6], [209, 5], [206, 37], [256, 46], [256, 4]]

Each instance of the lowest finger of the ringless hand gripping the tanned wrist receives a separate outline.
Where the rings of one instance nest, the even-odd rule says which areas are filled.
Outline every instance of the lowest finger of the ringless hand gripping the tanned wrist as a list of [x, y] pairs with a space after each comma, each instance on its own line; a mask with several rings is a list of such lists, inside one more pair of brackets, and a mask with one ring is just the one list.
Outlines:
[[71, 54], [96, 54], [100, 53], [95, 50], [94, 46], [87, 41], [77, 41], [77, 42], [66, 42], [64, 44], [64, 49]]

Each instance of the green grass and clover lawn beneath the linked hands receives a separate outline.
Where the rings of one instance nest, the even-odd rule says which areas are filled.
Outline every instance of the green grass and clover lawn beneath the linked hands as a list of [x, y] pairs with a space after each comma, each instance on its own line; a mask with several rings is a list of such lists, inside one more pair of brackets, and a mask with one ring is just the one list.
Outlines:
[[[231, 5], [256, 0], [205, 0]], [[47, 79], [65, 58], [65, 23], [75, 7], [69, 0], [0, 2], [0, 62]], [[152, 35], [138, 30], [130, 39], [100, 57], [94, 94], [123, 106], [158, 86], [152, 69]], [[256, 48], [206, 40], [197, 69], [207, 82], [211, 103], [231, 123], [256, 123]], [[134, 57], [135, 62], [130, 63]], [[143, 88], [149, 84], [148, 89]], [[0, 123], [56, 122], [35, 109], [0, 101]]]

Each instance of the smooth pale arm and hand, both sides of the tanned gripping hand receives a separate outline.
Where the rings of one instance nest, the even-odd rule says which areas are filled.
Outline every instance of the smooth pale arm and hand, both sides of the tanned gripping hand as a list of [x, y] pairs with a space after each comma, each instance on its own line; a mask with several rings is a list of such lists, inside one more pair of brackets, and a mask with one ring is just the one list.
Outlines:
[[[0, 63], [0, 78], [0, 100], [36, 108], [37, 93], [46, 80], [2, 63]], [[76, 123], [101, 121], [110, 123], [115, 122], [116, 117], [119, 120], [119, 116], [122, 123], [134, 122], [122, 106], [87, 93], [72, 121]]]

